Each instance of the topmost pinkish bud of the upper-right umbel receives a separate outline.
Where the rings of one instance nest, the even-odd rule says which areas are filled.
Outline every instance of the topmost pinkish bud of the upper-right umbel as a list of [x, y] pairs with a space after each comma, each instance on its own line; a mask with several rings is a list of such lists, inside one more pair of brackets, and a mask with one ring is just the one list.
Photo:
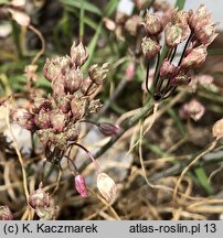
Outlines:
[[211, 13], [208, 12], [204, 4], [201, 4], [195, 13], [190, 12], [189, 24], [193, 30], [201, 29], [211, 22]]

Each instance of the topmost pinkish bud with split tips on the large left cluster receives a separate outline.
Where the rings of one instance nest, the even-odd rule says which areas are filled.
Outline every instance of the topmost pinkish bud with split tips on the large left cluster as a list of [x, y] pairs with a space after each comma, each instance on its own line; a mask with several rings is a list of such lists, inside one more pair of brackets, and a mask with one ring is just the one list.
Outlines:
[[81, 67], [88, 58], [87, 47], [85, 47], [82, 42], [75, 46], [75, 42], [71, 47], [71, 58], [76, 67]]

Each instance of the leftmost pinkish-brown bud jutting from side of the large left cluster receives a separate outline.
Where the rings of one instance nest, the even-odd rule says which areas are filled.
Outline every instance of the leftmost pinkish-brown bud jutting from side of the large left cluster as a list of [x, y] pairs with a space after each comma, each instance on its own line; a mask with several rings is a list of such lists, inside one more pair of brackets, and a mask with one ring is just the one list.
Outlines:
[[12, 113], [12, 119], [21, 128], [33, 131], [35, 130], [34, 115], [25, 109], [17, 109]]

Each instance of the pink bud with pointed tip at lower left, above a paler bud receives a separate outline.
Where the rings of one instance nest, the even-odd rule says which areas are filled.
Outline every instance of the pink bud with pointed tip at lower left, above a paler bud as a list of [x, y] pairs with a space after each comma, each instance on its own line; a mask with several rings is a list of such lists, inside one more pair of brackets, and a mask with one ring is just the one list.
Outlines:
[[39, 188], [30, 194], [29, 204], [34, 209], [36, 207], [49, 207], [50, 206], [49, 194], [46, 194], [42, 187], [43, 187], [43, 184], [41, 182], [39, 185]]

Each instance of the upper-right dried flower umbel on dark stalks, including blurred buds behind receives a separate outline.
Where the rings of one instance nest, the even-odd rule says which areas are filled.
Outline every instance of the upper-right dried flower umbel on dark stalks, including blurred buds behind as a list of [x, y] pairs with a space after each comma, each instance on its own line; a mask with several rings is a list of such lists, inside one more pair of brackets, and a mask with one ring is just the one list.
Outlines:
[[[121, 18], [123, 21], [116, 19], [114, 31], [119, 40], [130, 42], [129, 52], [136, 62], [138, 57], [145, 57], [146, 89], [159, 101], [172, 95], [178, 86], [191, 82], [191, 73], [204, 63], [206, 48], [217, 36], [217, 24], [212, 23], [211, 13], [203, 4], [194, 12], [174, 9], [159, 0], [152, 6], [149, 1], [134, 2], [145, 17], [141, 20], [136, 14]], [[150, 7], [153, 12], [146, 10]], [[163, 45], [160, 43], [162, 35]], [[183, 46], [182, 51], [178, 50], [179, 45]], [[153, 62], [157, 63], [150, 86], [149, 71]]]

